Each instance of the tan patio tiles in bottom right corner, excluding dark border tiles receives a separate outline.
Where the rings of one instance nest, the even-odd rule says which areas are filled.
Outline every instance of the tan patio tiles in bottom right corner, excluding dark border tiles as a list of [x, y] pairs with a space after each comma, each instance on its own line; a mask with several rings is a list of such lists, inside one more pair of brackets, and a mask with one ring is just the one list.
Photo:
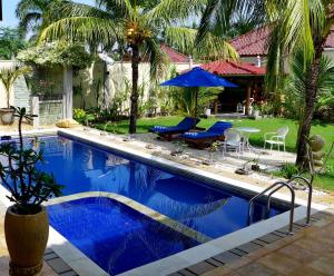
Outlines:
[[204, 275], [334, 275], [334, 216]]

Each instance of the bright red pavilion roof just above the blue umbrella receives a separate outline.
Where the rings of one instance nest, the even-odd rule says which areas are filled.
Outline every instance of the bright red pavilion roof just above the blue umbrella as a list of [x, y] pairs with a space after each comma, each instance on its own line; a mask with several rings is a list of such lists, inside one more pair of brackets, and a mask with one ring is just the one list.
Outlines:
[[216, 75], [224, 76], [264, 76], [266, 68], [256, 67], [246, 62], [232, 62], [217, 60], [206, 65], [202, 65], [202, 68]]

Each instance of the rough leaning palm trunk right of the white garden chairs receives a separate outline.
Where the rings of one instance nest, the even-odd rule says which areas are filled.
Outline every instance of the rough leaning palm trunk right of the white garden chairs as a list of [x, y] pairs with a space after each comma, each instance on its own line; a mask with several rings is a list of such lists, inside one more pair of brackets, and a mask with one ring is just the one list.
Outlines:
[[297, 159], [296, 165], [307, 168], [307, 139], [310, 137], [312, 119], [314, 115], [316, 96], [317, 96], [317, 80], [321, 69], [323, 48], [317, 48], [313, 63], [308, 68], [308, 81], [305, 89], [305, 107], [304, 115], [299, 124], [298, 140], [297, 140]]

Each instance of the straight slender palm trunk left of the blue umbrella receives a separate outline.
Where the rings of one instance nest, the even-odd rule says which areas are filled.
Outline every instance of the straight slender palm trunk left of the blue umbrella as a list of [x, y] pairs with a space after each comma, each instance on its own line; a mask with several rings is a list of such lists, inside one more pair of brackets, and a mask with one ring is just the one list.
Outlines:
[[132, 67], [132, 91], [131, 91], [131, 108], [130, 108], [130, 125], [129, 132], [136, 134], [137, 128], [137, 115], [138, 115], [138, 65], [139, 65], [139, 49], [138, 46], [132, 46], [132, 58], [131, 58], [131, 67]]

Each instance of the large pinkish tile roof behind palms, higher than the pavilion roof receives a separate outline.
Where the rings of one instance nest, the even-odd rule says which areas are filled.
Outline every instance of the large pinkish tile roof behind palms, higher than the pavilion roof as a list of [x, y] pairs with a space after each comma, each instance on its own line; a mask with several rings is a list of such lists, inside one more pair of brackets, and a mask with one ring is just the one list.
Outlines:
[[[239, 36], [230, 41], [240, 57], [267, 56], [269, 27], [262, 27]], [[325, 48], [334, 48], [334, 30], [326, 40]]]

